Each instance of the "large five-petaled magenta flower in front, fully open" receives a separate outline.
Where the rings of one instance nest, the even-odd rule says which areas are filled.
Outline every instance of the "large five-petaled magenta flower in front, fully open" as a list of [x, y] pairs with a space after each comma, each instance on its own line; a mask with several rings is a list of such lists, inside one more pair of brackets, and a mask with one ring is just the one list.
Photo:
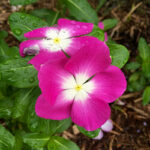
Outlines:
[[126, 79], [111, 65], [109, 49], [94, 37], [70, 59], [62, 58], [41, 66], [38, 74], [42, 94], [35, 111], [46, 119], [71, 117], [88, 131], [96, 130], [110, 117], [109, 104], [123, 94]]

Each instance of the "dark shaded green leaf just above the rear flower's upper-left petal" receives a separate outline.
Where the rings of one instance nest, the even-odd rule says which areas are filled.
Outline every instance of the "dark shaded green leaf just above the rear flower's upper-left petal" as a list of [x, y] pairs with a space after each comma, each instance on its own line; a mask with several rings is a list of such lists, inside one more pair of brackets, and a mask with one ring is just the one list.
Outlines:
[[36, 9], [30, 12], [31, 15], [44, 19], [49, 26], [57, 24], [57, 20], [60, 18], [60, 12], [55, 12], [50, 9]]

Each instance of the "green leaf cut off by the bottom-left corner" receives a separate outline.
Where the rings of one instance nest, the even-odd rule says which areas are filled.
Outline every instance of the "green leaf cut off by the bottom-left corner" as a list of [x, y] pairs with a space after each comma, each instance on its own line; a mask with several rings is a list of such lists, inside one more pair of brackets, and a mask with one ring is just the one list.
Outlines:
[[14, 136], [0, 125], [0, 150], [12, 150], [14, 144]]

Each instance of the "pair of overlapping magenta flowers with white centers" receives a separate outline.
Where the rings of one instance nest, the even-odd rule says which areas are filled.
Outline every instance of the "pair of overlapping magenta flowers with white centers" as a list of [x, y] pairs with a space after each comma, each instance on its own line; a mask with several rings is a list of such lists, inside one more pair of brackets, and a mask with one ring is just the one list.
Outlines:
[[111, 65], [105, 42], [87, 36], [92, 30], [92, 23], [59, 19], [54, 27], [24, 35], [28, 40], [21, 43], [20, 54], [35, 54], [29, 63], [38, 70], [42, 94], [35, 111], [39, 117], [71, 117], [88, 131], [110, 118], [109, 103], [123, 94], [126, 79]]

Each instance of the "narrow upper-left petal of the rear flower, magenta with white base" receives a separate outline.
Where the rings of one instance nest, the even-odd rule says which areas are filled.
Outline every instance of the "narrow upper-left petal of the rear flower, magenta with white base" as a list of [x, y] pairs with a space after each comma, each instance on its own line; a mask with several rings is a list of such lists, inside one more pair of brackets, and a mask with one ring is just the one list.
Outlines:
[[59, 29], [57, 27], [43, 27], [24, 34], [26, 38], [53, 38], [58, 36]]

